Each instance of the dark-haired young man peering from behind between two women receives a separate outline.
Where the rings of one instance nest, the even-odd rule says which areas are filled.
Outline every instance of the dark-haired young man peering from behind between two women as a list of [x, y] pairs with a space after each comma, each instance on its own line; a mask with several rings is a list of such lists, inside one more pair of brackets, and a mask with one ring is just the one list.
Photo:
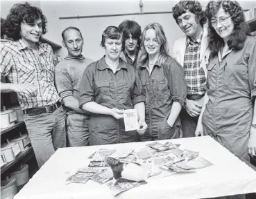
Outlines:
[[123, 32], [125, 46], [120, 57], [136, 68], [141, 46], [142, 28], [136, 21], [124, 20], [118, 27]]

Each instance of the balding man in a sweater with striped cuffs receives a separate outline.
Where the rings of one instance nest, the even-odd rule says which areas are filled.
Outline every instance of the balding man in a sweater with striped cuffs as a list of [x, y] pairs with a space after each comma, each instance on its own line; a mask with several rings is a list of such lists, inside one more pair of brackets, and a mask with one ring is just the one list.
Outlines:
[[79, 108], [78, 99], [83, 71], [93, 61], [82, 55], [83, 37], [78, 28], [65, 28], [62, 39], [68, 55], [55, 68], [55, 83], [65, 105], [69, 146], [86, 146], [89, 138], [89, 115]]

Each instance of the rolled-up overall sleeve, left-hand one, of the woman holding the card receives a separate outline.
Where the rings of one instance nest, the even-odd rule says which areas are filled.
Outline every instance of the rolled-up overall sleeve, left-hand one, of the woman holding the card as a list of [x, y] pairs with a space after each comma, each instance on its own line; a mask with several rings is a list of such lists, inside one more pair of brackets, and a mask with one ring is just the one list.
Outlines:
[[83, 72], [83, 77], [80, 82], [80, 97], [79, 107], [82, 108], [83, 104], [87, 102], [95, 102], [94, 93], [94, 64], [89, 64]]

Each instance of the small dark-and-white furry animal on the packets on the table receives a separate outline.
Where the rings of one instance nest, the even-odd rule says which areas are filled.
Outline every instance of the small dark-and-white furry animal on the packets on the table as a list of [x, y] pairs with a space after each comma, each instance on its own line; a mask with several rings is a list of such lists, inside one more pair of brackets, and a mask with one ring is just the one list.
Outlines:
[[113, 172], [113, 186], [117, 184], [119, 178], [133, 180], [136, 182], [146, 181], [148, 171], [136, 162], [124, 163], [111, 157], [106, 157], [105, 162], [110, 166]]

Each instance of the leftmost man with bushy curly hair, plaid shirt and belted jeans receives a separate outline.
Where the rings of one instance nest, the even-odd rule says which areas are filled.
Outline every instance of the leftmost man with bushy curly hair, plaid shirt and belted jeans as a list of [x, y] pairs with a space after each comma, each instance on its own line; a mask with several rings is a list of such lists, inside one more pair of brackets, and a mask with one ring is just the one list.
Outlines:
[[16, 92], [39, 167], [66, 146], [65, 112], [54, 86], [53, 50], [39, 42], [46, 17], [29, 3], [12, 6], [3, 32], [13, 41], [1, 48], [1, 92]]

